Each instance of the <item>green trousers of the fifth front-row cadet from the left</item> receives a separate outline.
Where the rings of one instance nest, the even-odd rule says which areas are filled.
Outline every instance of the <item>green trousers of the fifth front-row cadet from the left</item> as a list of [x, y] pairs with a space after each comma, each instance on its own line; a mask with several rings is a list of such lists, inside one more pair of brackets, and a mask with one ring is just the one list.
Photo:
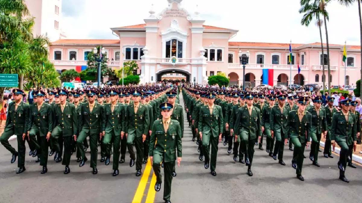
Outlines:
[[114, 131], [110, 131], [110, 133], [106, 133], [103, 138], [103, 144], [105, 146], [105, 155], [111, 156], [112, 144], [111, 140], [113, 139], [113, 170], [118, 169], [119, 164], [119, 148], [121, 148], [121, 135], [114, 135]]

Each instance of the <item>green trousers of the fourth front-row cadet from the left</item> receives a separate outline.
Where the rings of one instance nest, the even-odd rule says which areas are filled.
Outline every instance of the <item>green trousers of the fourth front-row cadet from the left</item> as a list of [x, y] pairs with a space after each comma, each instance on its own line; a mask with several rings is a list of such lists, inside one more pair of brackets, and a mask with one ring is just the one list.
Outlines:
[[83, 142], [89, 136], [90, 143], [90, 168], [97, 167], [97, 157], [98, 157], [98, 136], [99, 134], [85, 133], [84, 130], [80, 131], [79, 136], [77, 137], [77, 147], [80, 150], [80, 156], [84, 159], [84, 146]]

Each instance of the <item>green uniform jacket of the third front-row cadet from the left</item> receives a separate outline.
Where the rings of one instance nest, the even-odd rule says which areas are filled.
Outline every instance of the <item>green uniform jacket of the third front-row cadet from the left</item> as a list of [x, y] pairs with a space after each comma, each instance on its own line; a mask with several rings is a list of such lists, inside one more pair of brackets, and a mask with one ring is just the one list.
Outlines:
[[60, 128], [62, 128], [63, 137], [77, 135], [78, 119], [74, 104], [66, 102], [63, 112], [60, 108], [60, 104], [55, 104], [53, 116], [54, 127], [59, 125]]

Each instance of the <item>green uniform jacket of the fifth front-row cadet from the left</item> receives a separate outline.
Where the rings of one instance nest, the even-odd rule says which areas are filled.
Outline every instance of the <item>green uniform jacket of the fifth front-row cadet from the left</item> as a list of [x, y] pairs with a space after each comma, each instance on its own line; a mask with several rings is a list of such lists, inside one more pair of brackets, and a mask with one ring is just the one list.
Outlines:
[[104, 112], [106, 133], [110, 133], [113, 130], [115, 136], [120, 136], [121, 131], [125, 129], [125, 108], [123, 108], [123, 105], [116, 103], [112, 112], [110, 104], [105, 105]]

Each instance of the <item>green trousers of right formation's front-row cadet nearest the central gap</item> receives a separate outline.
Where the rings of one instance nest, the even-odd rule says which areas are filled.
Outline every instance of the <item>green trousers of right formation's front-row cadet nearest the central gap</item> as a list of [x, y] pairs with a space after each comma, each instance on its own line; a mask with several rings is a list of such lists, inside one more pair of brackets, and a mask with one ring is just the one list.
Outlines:
[[[211, 144], [211, 157], [210, 157], [210, 144]], [[202, 135], [202, 150], [205, 156], [205, 161], [210, 163], [210, 170], [216, 169], [216, 157], [218, 155], [219, 136]]]

